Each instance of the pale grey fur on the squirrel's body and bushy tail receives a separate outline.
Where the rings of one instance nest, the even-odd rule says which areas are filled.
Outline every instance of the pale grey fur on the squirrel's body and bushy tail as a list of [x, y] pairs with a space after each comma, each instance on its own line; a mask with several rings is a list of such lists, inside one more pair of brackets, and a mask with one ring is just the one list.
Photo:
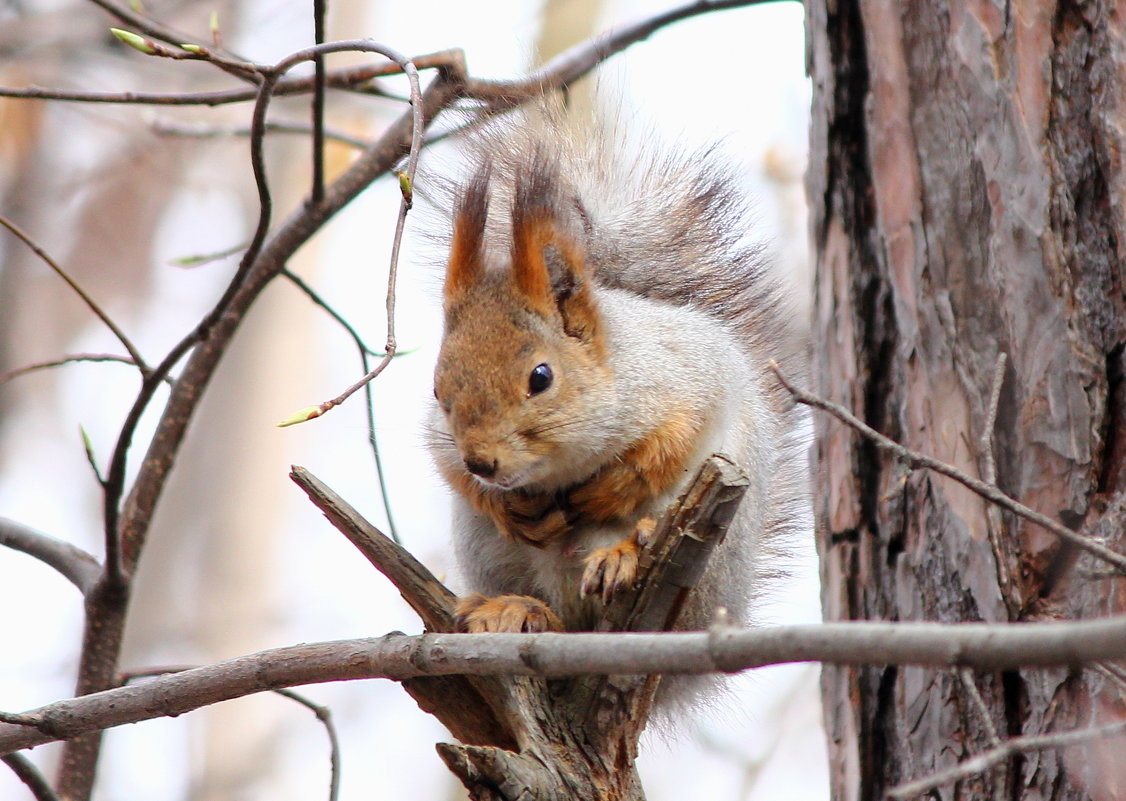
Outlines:
[[[586, 425], [600, 433], [597, 450], [605, 463], [651, 430], [670, 406], [704, 415], [708, 427], [692, 469], [645, 511], [659, 516], [711, 453], [725, 453], [743, 468], [751, 479], [747, 498], [681, 628], [706, 628], [720, 606], [750, 625], [756, 598], [783, 572], [781, 545], [807, 534], [807, 425], [768, 368], [774, 359], [801, 376], [802, 356], [793, 353], [799, 337], [761, 250], [747, 244], [748, 213], [721, 155], [652, 148], [627, 155], [619, 142], [597, 126], [577, 131], [547, 105], [476, 133], [466, 149], [471, 173], [485, 163], [490, 170], [486, 248], [493, 262], [504, 261], [516, 176], [536, 158], [557, 163], [560, 203], [593, 268], [615, 376], [583, 410]], [[447, 210], [457, 195], [453, 183], [431, 190]], [[432, 422], [435, 457], [458, 461], [437, 409]], [[581, 481], [598, 466], [581, 460], [555, 479]], [[590, 528], [540, 550], [502, 539], [455, 497], [454, 542], [465, 589], [543, 598], [572, 628], [600, 603], [579, 600], [583, 553], [628, 534]], [[704, 686], [686, 679], [665, 685], [665, 712]]]

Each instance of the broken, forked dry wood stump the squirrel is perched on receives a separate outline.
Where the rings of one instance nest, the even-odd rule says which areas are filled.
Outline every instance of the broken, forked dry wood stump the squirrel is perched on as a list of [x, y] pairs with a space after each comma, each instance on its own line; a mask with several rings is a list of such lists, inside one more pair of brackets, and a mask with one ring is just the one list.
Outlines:
[[[453, 594], [402, 548], [301, 468], [292, 477], [432, 631], [450, 631]], [[712, 456], [659, 523], [634, 589], [619, 594], [599, 631], [676, 626], [747, 489]], [[404, 682], [419, 706], [461, 740], [438, 755], [477, 801], [644, 799], [634, 760], [659, 676], [446, 676]]]

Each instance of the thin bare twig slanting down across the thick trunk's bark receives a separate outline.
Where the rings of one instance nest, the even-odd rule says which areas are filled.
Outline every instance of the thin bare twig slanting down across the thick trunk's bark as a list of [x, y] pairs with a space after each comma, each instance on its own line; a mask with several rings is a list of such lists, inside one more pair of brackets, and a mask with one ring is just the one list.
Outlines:
[[954, 479], [959, 484], [962, 484], [963, 487], [973, 492], [976, 492], [985, 500], [992, 501], [993, 504], [997, 504], [998, 506], [1008, 509], [1012, 514], [1024, 517], [1026, 520], [1029, 520], [1038, 526], [1047, 528], [1049, 532], [1058, 536], [1061, 540], [1065, 540], [1074, 544], [1076, 548], [1087, 551], [1091, 555], [1101, 559], [1105, 562], [1114, 564], [1120, 571], [1126, 572], [1126, 557], [1124, 557], [1123, 554], [1116, 553], [1106, 545], [1094, 542], [1093, 540], [1082, 536], [1081, 534], [1076, 534], [1066, 526], [1056, 523], [1051, 517], [1047, 517], [1038, 511], [1028, 508], [1024, 504], [1015, 500], [1013, 498], [1009, 497], [1008, 495], [999, 490], [993, 484], [985, 483], [984, 481], [967, 475], [966, 473], [962, 472], [960, 470], [950, 464], [947, 464], [946, 462], [940, 462], [937, 459], [932, 459], [924, 454], [906, 448], [903, 445], [900, 445], [894, 439], [884, 436], [876, 429], [858, 420], [844, 407], [824, 400], [822, 398], [817, 398], [816, 395], [812, 395], [803, 390], [797, 389], [796, 386], [790, 384], [789, 381], [786, 380], [786, 377], [781, 374], [781, 371], [778, 368], [777, 364], [771, 363], [770, 368], [774, 371], [775, 375], [778, 376], [778, 381], [781, 382], [781, 385], [785, 386], [786, 390], [788, 390], [789, 393], [794, 397], [794, 399], [797, 400], [799, 403], [805, 403], [806, 406], [811, 406], [815, 409], [821, 409], [822, 411], [829, 412], [830, 415], [835, 417], [838, 420], [840, 420], [848, 427], [852, 428], [854, 430], [858, 431], [859, 434], [863, 434], [865, 437], [870, 439], [877, 447], [894, 453], [896, 456], [903, 460], [911, 470], [918, 470], [920, 468], [923, 468], [926, 470], [931, 470], [936, 473], [940, 473], [941, 475], [945, 475], [949, 479]]

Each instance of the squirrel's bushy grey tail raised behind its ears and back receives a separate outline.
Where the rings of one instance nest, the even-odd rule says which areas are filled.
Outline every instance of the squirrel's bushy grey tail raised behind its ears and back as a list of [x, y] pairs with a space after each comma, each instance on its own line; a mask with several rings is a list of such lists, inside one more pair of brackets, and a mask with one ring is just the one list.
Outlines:
[[[503, 258], [517, 176], [555, 167], [560, 219], [605, 286], [708, 312], [756, 353], [779, 362], [795, 348], [784, 292], [749, 232], [738, 175], [717, 148], [679, 151], [626, 141], [575, 122], [549, 99], [506, 115], [466, 139], [470, 175], [488, 166], [488, 241]], [[455, 196], [457, 187], [438, 193]], [[439, 206], [453, 204], [439, 197]]]

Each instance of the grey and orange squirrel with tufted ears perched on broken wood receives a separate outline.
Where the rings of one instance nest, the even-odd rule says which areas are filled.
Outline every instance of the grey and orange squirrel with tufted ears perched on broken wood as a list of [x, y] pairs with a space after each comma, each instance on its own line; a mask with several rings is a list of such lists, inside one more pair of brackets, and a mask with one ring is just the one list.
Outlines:
[[627, 154], [571, 122], [492, 123], [446, 189], [430, 448], [472, 590], [458, 626], [590, 629], [712, 453], [750, 487], [678, 626], [747, 624], [779, 535], [808, 525], [808, 427], [768, 366], [801, 359], [785, 292], [714, 149]]

